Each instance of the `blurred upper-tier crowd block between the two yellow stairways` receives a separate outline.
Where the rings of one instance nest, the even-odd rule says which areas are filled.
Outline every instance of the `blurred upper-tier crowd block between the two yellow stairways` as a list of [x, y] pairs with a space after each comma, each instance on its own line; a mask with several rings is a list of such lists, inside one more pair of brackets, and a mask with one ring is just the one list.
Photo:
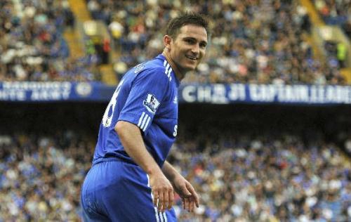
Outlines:
[[88, 0], [93, 18], [110, 28], [121, 58], [118, 74], [163, 49], [166, 22], [184, 11], [208, 15], [211, 44], [206, 63], [190, 83], [344, 84], [338, 60], [314, 59], [305, 39], [310, 19], [298, 1]]

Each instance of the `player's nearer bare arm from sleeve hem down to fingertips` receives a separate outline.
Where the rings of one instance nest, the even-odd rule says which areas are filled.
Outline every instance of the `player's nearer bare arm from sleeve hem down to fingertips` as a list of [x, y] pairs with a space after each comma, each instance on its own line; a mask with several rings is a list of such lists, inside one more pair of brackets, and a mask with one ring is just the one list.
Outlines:
[[145, 148], [138, 126], [119, 121], [114, 126], [114, 130], [117, 132], [127, 154], [149, 175], [154, 205], [158, 206], [159, 211], [164, 211], [166, 207], [171, 209], [174, 200], [173, 187]]

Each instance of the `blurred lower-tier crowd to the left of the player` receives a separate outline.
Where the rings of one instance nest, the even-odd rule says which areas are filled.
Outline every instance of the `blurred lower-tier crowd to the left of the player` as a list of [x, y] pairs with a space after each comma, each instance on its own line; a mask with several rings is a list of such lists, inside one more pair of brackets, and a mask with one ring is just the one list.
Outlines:
[[80, 185], [95, 143], [61, 136], [0, 137], [0, 221], [80, 221]]

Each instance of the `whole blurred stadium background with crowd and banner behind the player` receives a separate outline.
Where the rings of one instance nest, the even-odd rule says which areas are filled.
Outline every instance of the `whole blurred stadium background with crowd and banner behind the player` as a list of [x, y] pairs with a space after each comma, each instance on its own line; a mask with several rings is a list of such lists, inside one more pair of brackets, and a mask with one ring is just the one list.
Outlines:
[[164, 26], [208, 15], [169, 161], [179, 221], [351, 221], [350, 0], [0, 1], [0, 221], [81, 221], [98, 126]]

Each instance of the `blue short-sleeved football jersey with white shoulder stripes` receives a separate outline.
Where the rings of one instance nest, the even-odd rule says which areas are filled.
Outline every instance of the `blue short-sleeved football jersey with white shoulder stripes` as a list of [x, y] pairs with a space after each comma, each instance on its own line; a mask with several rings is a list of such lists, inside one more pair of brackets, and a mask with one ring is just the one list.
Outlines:
[[126, 72], [102, 117], [94, 160], [133, 162], [114, 131], [118, 121], [139, 127], [147, 150], [161, 167], [177, 136], [179, 81], [164, 55]]

